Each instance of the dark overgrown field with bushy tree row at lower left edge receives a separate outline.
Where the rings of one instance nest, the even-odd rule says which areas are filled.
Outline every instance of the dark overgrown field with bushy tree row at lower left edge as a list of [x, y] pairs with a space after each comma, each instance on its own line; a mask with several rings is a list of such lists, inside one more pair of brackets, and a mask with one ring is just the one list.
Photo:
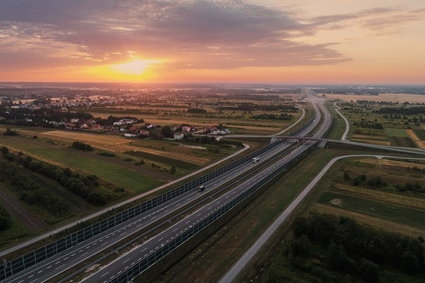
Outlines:
[[[23, 238], [78, 220], [99, 208], [100, 204], [90, 201], [87, 196], [79, 195], [69, 186], [65, 187], [53, 177], [20, 165], [13, 159], [5, 159], [3, 151], [0, 166], [0, 206], [10, 219], [9, 227], [0, 230], [2, 248]], [[10, 171], [6, 168], [10, 168]], [[66, 180], [65, 176], [63, 178]], [[71, 182], [71, 179], [68, 181]], [[112, 191], [112, 188], [104, 186], [103, 182], [101, 185], [98, 183], [95, 187], [90, 187], [90, 190], [105, 196], [105, 203], [125, 195], [125, 192]]]

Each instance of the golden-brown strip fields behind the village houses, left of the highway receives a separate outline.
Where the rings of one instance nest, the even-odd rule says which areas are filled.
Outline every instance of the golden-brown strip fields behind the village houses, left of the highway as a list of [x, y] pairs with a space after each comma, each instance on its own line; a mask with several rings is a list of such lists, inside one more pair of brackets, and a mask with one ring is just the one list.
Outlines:
[[[286, 97], [286, 96], [283, 96]], [[294, 99], [295, 97], [291, 97]], [[291, 102], [292, 103], [292, 102]], [[169, 103], [171, 104], [171, 102]], [[196, 104], [197, 107], [208, 111], [206, 114], [188, 113], [188, 104]], [[186, 102], [167, 106], [127, 106], [116, 105], [103, 108], [82, 109], [91, 113], [95, 117], [106, 118], [110, 115], [130, 115], [139, 119], [143, 119], [145, 123], [151, 123], [159, 126], [190, 124], [198, 128], [206, 128], [213, 125], [222, 124], [229, 128], [233, 134], [273, 134], [287, 127], [299, 116], [298, 112], [284, 112], [281, 110], [238, 110], [240, 105], [252, 105], [255, 107], [264, 107], [273, 104], [271, 101], [257, 100], [232, 100], [230, 98], [218, 99], [197, 99], [193, 102]], [[177, 107], [178, 106], [178, 107]], [[234, 107], [235, 109], [227, 110], [225, 107]], [[261, 114], [280, 115], [287, 113], [293, 115], [292, 120], [278, 119], [256, 119], [255, 115]]]

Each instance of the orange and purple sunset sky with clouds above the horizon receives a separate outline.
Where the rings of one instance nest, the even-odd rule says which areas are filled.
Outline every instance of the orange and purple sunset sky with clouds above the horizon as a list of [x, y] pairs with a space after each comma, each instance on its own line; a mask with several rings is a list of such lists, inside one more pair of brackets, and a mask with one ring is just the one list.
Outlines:
[[425, 84], [425, 1], [0, 0], [0, 81]]

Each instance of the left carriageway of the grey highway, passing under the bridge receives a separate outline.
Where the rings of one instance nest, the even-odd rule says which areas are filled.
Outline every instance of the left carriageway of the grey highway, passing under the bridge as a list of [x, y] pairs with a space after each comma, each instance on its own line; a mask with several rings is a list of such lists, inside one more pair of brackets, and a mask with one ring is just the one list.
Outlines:
[[[317, 107], [315, 113], [317, 117], [320, 117], [320, 111]], [[312, 122], [306, 129], [300, 132], [300, 135], [309, 133], [319, 123], [319, 119]], [[60, 273], [69, 270], [70, 268], [78, 265], [82, 261], [100, 253], [101, 251], [111, 247], [112, 245], [120, 242], [122, 239], [129, 237], [144, 229], [153, 223], [156, 223], [163, 219], [166, 221], [176, 210], [179, 208], [200, 199], [205, 193], [214, 190], [223, 184], [240, 178], [245, 172], [258, 166], [258, 164], [265, 162], [272, 158], [276, 154], [288, 149], [293, 146], [294, 142], [281, 142], [277, 146], [273, 147], [269, 151], [261, 154], [260, 162], [252, 163], [248, 161], [229, 172], [220, 175], [219, 177], [206, 182], [206, 190], [203, 193], [197, 192], [197, 190], [189, 191], [172, 201], [164, 203], [153, 210], [147, 211], [144, 214], [138, 216], [136, 219], [130, 219], [116, 227], [113, 227], [93, 238], [90, 238], [68, 250], [65, 250], [48, 260], [40, 262], [39, 264], [33, 265], [22, 272], [19, 272], [9, 277], [7, 282], [20, 283], [20, 282], [44, 282], [48, 279], [54, 278]]]

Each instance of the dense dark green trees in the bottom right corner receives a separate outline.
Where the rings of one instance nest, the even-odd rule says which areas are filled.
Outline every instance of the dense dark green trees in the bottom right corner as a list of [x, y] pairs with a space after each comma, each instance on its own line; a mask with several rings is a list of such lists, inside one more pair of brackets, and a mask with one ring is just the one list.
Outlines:
[[424, 239], [376, 230], [347, 217], [310, 214], [293, 223], [293, 258], [311, 256], [312, 244], [326, 250], [324, 265], [365, 281], [378, 282], [381, 266], [399, 272], [425, 275]]

